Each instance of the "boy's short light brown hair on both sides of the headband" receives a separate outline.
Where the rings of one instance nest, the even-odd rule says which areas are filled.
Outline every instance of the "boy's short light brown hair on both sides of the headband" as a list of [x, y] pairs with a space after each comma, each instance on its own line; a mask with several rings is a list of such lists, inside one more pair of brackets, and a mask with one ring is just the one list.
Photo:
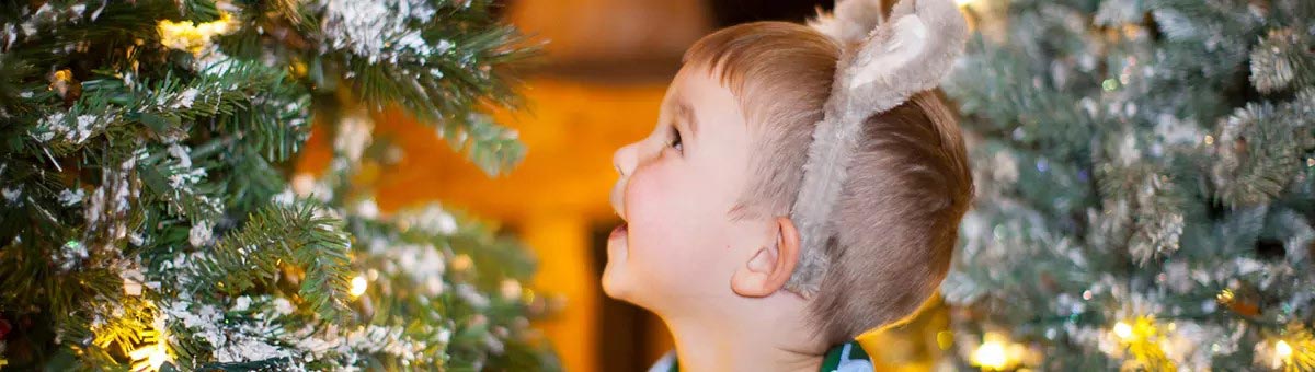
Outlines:
[[[685, 54], [686, 64], [709, 68], [732, 91], [755, 135], [752, 179], [732, 213], [789, 214], [840, 50], [803, 25], [752, 22], [704, 37]], [[932, 296], [973, 193], [957, 121], [938, 92], [869, 117], [859, 147], [832, 220], [831, 266], [810, 309], [828, 343], [897, 323]]]

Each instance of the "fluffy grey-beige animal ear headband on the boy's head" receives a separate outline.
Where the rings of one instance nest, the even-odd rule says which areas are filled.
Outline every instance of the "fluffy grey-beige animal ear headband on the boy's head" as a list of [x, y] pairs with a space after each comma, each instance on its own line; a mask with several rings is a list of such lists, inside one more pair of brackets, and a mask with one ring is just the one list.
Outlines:
[[838, 0], [834, 14], [809, 22], [843, 49], [790, 212], [802, 246], [785, 288], [803, 297], [817, 293], [830, 266], [826, 246], [836, 233], [834, 210], [863, 122], [940, 84], [968, 38], [952, 0], [901, 0], [889, 20], [882, 20], [880, 3]]

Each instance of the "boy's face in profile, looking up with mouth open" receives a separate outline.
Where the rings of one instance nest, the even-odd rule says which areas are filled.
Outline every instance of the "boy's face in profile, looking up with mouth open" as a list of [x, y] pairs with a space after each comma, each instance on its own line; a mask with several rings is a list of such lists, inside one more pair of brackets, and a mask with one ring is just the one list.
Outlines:
[[744, 264], [738, 247], [761, 244], [768, 231], [730, 214], [750, 146], [731, 91], [702, 66], [681, 68], [652, 134], [613, 155], [621, 177], [611, 205], [626, 223], [608, 239], [609, 296], [669, 313], [731, 293], [731, 273]]

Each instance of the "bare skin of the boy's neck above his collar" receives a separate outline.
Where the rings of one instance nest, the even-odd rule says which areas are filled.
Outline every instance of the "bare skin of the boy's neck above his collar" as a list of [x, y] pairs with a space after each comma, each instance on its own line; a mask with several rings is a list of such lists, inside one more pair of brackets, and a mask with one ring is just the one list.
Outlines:
[[811, 340], [798, 319], [755, 308], [760, 310], [730, 319], [664, 318], [675, 339], [680, 371], [815, 372], [821, 368], [828, 346]]

